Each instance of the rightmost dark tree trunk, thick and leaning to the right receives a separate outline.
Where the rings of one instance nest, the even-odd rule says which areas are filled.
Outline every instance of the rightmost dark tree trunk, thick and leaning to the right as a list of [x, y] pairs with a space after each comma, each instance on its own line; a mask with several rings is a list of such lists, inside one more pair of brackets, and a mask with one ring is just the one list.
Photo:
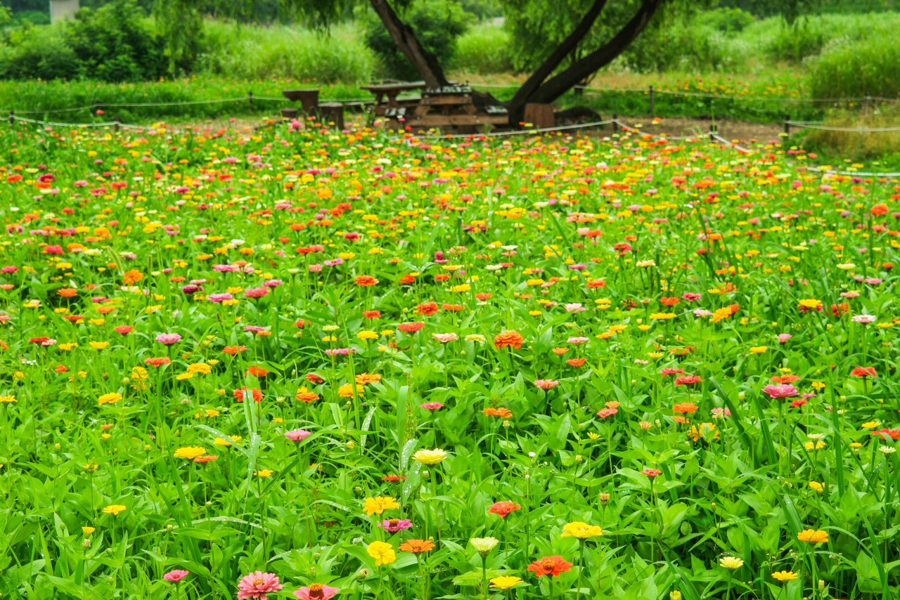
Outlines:
[[653, 18], [653, 13], [665, 0], [644, 0], [631, 21], [627, 22], [612, 40], [599, 49], [594, 50], [584, 58], [576, 61], [571, 67], [562, 73], [552, 77], [544, 85], [541, 85], [533, 94], [529, 94], [527, 102], [552, 103], [577, 85], [582, 79], [592, 75], [600, 67], [605, 67], [614, 58], [620, 55], [640, 35], [641, 31]]

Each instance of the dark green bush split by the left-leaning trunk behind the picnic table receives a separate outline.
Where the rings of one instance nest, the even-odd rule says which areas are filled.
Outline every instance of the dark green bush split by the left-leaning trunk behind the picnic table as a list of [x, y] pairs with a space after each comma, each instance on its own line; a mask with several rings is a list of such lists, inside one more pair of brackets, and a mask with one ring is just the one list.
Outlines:
[[[410, 6], [401, 14], [422, 46], [433, 52], [440, 64], [449, 64], [456, 49], [456, 39], [469, 28], [471, 15], [455, 2], [425, 0]], [[365, 43], [382, 59], [387, 74], [401, 79], [419, 79], [380, 19], [371, 11], [365, 13]]]

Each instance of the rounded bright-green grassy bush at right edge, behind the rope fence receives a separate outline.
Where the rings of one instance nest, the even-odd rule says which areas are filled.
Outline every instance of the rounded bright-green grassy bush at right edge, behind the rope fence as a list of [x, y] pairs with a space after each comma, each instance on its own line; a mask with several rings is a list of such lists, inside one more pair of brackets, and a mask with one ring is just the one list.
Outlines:
[[890, 36], [830, 45], [812, 61], [816, 98], [900, 97], [900, 46]]

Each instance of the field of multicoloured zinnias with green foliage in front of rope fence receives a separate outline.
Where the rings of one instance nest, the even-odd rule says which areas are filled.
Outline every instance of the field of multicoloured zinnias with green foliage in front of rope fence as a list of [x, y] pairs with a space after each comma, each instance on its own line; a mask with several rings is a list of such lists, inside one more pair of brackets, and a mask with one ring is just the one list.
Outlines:
[[891, 180], [627, 131], [0, 142], [3, 598], [900, 596]]

